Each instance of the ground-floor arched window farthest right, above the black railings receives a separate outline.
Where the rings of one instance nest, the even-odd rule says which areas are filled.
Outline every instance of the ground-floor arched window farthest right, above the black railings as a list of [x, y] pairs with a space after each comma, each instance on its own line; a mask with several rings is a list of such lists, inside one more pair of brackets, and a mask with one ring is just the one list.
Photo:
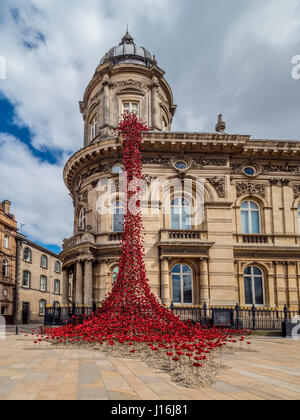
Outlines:
[[255, 266], [244, 272], [246, 305], [264, 305], [264, 278], [262, 271]]

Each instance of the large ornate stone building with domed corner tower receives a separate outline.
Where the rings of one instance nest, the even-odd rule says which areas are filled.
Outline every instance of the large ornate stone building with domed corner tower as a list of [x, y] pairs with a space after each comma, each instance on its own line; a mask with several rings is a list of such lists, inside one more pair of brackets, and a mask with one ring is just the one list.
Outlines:
[[[189, 196], [161, 189], [144, 214], [148, 278], [163, 304], [298, 308], [300, 303], [300, 142], [228, 134], [222, 116], [212, 133], [172, 132], [173, 94], [156, 59], [126, 33], [100, 61], [80, 111], [84, 147], [66, 163], [74, 235], [66, 239], [63, 302], [74, 273], [76, 304], [100, 304], [118, 270], [121, 197], [99, 208], [99, 180], [118, 179], [122, 112], [134, 111], [151, 131], [143, 140], [145, 180], [190, 180]], [[197, 180], [203, 219], [192, 223]], [[165, 202], [169, 214], [162, 209]], [[149, 197], [143, 201], [144, 210]], [[154, 209], [154, 210], [155, 210]], [[146, 212], [144, 212], [146, 213]]]

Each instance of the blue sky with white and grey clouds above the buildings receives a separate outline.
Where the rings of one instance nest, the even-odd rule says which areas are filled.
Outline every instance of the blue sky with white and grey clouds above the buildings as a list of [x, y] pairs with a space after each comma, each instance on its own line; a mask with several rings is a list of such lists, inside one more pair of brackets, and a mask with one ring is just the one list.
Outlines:
[[127, 23], [166, 71], [173, 130], [211, 132], [222, 113], [229, 133], [300, 138], [298, 0], [1, 0], [0, 200], [57, 252], [73, 229], [62, 173], [83, 144], [78, 101]]

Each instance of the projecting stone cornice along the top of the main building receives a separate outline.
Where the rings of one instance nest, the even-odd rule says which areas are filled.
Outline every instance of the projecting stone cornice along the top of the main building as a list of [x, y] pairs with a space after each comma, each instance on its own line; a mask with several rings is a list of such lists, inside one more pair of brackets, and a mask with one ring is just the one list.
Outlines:
[[[79, 170], [89, 166], [92, 161], [99, 163], [107, 158], [115, 158], [121, 154], [122, 138], [111, 137], [78, 150], [65, 165], [64, 180], [69, 190], [72, 190], [72, 180]], [[187, 133], [187, 132], [155, 132], [150, 131], [144, 134], [143, 151], [151, 153], [165, 152], [166, 154], [191, 154], [207, 156], [207, 158], [218, 154], [224, 160], [229, 158], [240, 159], [272, 159], [288, 163], [291, 159], [300, 159], [300, 141], [278, 141], [278, 140], [250, 140], [249, 135], [229, 135], [216, 133]], [[222, 159], [221, 159], [222, 160]], [[220, 160], [220, 161], [221, 161]], [[214, 165], [212, 165], [214, 166]], [[219, 166], [219, 165], [217, 165]]]

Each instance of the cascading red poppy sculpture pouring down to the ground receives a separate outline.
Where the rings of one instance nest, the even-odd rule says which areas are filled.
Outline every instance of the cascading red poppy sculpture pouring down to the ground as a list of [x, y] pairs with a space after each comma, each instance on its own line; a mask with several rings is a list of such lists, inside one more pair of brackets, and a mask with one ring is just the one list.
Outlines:
[[[184, 359], [187, 350], [193, 356], [210, 354], [226, 345], [229, 335], [245, 334], [226, 329], [202, 329], [199, 324], [184, 323], [162, 306], [151, 292], [144, 263], [141, 215], [142, 135], [146, 125], [134, 113], [123, 115], [118, 132], [123, 138], [123, 166], [127, 175], [124, 195], [124, 232], [119, 274], [101, 309], [84, 320], [44, 331], [53, 340], [65, 343], [107, 344], [114, 348], [129, 345], [134, 354], [143, 349], [154, 357], [173, 361]], [[134, 208], [135, 211], [131, 211]], [[137, 211], [136, 211], [137, 209]], [[73, 320], [73, 321], [76, 321]], [[134, 347], [132, 350], [130, 348]], [[166, 349], [168, 352], [166, 353]], [[127, 350], [128, 351], [128, 350]], [[199, 357], [199, 360], [206, 357]], [[198, 358], [195, 358], [198, 360]], [[197, 362], [193, 366], [200, 367]]]

